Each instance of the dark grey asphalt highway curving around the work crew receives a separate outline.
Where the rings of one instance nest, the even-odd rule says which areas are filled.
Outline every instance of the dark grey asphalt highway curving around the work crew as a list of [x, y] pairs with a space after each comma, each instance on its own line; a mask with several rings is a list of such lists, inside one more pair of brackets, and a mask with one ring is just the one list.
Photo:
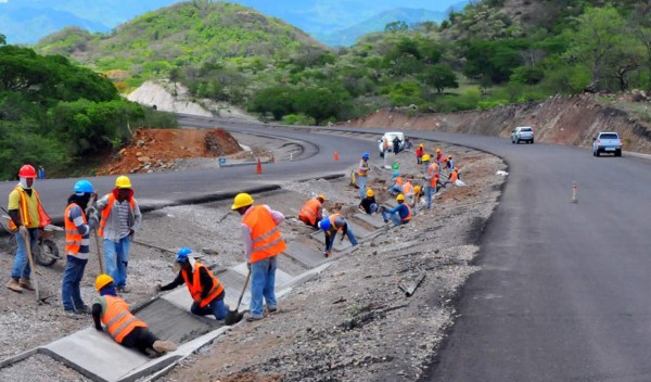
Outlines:
[[[339, 171], [375, 143], [242, 123], [183, 117], [183, 125], [308, 141], [302, 161], [264, 167], [133, 175], [150, 205]], [[323, 130], [323, 128], [320, 128]], [[384, 129], [376, 129], [383, 131]], [[365, 129], [365, 131], [370, 131]], [[459, 317], [426, 381], [651, 381], [651, 234], [646, 160], [593, 157], [588, 149], [409, 131], [501, 156], [510, 175], [482, 237]], [[340, 162], [332, 161], [334, 150]], [[461, 164], [462, 166], [462, 164]], [[94, 178], [100, 191], [114, 177]], [[467, 179], [472, 182], [472, 179]], [[571, 203], [572, 183], [578, 203]], [[37, 183], [63, 211], [72, 180]], [[8, 194], [13, 182], [0, 184]]]

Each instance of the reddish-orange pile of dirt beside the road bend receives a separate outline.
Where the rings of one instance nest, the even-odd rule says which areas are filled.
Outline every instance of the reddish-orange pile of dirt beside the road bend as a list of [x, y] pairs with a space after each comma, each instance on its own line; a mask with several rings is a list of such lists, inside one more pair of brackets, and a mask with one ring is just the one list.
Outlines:
[[217, 157], [242, 151], [224, 129], [139, 129], [131, 142], [105, 161], [97, 174], [158, 173], [174, 169], [177, 160]]

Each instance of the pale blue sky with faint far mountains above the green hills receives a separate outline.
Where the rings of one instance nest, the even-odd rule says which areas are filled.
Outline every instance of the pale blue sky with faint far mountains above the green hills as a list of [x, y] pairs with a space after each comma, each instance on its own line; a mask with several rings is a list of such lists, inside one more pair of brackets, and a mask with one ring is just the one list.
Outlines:
[[[207, 0], [196, 0], [206, 2]], [[0, 34], [10, 43], [34, 43], [64, 26], [106, 31], [145, 12], [168, 7], [178, 0], [0, 0]], [[215, 1], [226, 2], [226, 1]], [[265, 15], [292, 24], [312, 36], [333, 35], [382, 12], [405, 7], [403, 0], [232, 0]], [[469, 0], [412, 0], [411, 9], [445, 12], [462, 8]], [[64, 12], [64, 13], [61, 13]], [[77, 18], [75, 18], [75, 16]], [[33, 18], [25, 24], [21, 20]]]

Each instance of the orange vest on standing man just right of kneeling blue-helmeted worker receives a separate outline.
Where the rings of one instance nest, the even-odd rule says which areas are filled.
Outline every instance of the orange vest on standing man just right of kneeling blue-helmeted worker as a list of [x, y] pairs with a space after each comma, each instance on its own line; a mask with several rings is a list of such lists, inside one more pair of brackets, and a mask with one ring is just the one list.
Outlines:
[[278, 226], [273, 221], [267, 207], [255, 205], [246, 213], [242, 224], [251, 229], [253, 251], [251, 263], [263, 260], [267, 257], [279, 255], [286, 249]]

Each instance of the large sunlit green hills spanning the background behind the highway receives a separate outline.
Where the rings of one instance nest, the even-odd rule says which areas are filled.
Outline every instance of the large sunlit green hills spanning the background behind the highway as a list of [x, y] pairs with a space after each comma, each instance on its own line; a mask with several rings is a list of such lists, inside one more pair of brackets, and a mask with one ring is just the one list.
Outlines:
[[204, 1], [173, 10], [112, 36], [66, 30], [39, 49], [72, 52], [124, 89], [167, 77], [196, 97], [290, 124], [383, 106], [455, 112], [651, 87], [650, 7], [641, 0], [476, 1], [441, 23], [390, 23], [336, 51], [252, 9]]

